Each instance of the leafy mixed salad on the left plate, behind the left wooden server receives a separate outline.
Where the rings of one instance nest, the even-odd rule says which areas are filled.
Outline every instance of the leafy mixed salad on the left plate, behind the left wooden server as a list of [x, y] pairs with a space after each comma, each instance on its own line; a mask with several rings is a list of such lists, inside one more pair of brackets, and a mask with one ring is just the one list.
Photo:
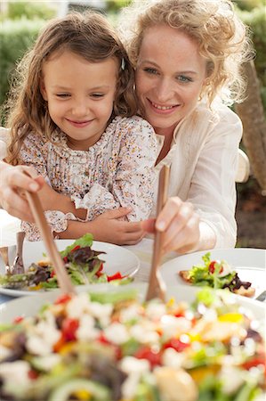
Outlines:
[[[106, 252], [92, 250], [93, 235], [86, 233], [72, 245], [60, 252], [61, 258], [74, 285], [94, 282], [127, 283], [133, 279], [123, 276], [120, 272], [109, 275], [104, 272], [104, 261], [99, 255]], [[14, 290], [51, 290], [58, 288], [58, 281], [49, 258], [44, 258], [28, 266], [23, 274], [0, 275], [0, 286]]]

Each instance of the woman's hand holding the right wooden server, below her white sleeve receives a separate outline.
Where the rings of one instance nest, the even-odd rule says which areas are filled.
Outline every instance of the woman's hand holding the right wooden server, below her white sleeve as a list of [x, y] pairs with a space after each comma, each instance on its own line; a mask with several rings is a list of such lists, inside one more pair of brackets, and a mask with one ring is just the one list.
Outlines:
[[149, 233], [155, 233], [155, 229], [165, 233], [164, 252], [177, 250], [186, 253], [199, 247], [199, 217], [191, 203], [183, 202], [178, 197], [170, 198], [165, 203], [156, 221], [145, 220], [142, 226]]

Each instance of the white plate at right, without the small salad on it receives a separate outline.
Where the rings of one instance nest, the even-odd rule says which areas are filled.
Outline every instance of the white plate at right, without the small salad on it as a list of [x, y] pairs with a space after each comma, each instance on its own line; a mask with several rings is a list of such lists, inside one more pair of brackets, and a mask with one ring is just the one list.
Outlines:
[[189, 270], [193, 265], [203, 264], [202, 256], [206, 252], [211, 252], [212, 260], [226, 260], [238, 272], [240, 280], [251, 282], [255, 288], [254, 297], [266, 290], [266, 250], [251, 248], [203, 250], [169, 260], [160, 270], [166, 285], [176, 282], [188, 288], [189, 284], [182, 281], [179, 272]]

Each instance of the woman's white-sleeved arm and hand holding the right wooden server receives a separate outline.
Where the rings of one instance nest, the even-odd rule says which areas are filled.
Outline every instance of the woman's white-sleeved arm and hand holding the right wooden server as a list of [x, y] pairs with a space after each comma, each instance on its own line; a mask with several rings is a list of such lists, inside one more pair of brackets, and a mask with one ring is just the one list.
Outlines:
[[[195, 160], [197, 163], [189, 182], [186, 176], [181, 177], [182, 186], [189, 188], [187, 194], [182, 192], [186, 201], [179, 197], [169, 199], [157, 218], [157, 229], [165, 232], [165, 251], [186, 253], [235, 245], [235, 175], [242, 126], [238, 116], [225, 106], [220, 112], [219, 121], [210, 124], [205, 134], [191, 131], [191, 141], [198, 151], [190, 151], [188, 164], [193, 166]], [[188, 132], [182, 134], [188, 141]], [[143, 225], [147, 231], [154, 231], [155, 222]]]

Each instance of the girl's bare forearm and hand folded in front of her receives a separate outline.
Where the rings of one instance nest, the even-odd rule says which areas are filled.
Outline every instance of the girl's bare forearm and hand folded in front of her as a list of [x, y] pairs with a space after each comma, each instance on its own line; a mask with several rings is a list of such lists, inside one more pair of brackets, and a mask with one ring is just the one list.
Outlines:
[[69, 221], [68, 229], [60, 233], [60, 238], [78, 238], [85, 233], [93, 233], [95, 241], [116, 243], [117, 245], [134, 245], [142, 240], [145, 232], [141, 222], [120, 220], [130, 213], [131, 209], [119, 208], [108, 210], [93, 221], [86, 223]]

